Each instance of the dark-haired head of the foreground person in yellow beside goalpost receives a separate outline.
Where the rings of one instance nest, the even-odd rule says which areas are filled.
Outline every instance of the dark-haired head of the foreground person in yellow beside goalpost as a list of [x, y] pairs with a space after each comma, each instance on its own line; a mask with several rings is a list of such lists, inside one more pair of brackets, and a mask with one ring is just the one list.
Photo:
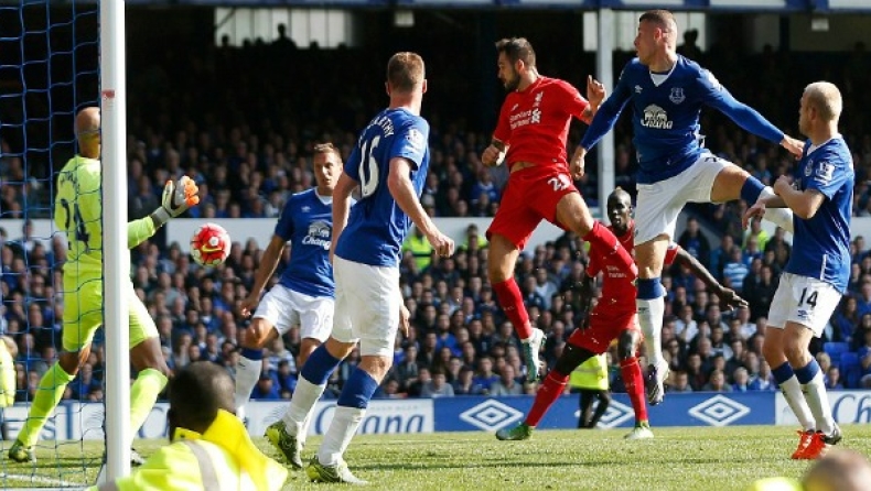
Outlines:
[[205, 432], [218, 410], [236, 412], [235, 385], [227, 371], [211, 361], [184, 367], [170, 382], [170, 411], [178, 426]]

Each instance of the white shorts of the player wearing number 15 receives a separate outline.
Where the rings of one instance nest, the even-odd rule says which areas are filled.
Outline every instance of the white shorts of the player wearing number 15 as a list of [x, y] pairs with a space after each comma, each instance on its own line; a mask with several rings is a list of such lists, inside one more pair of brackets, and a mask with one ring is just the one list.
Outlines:
[[333, 258], [337, 341], [359, 341], [362, 356], [394, 356], [399, 329], [399, 269]]

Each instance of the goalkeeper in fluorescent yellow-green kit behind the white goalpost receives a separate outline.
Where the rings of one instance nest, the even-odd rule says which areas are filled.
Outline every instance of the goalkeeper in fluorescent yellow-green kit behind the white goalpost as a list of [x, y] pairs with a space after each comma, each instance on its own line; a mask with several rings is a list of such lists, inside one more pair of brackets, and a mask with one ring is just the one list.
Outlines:
[[[35, 461], [33, 446], [45, 419], [57, 406], [67, 384], [90, 354], [94, 334], [103, 324], [103, 200], [100, 177], [100, 113], [85, 108], [76, 116], [78, 155], [57, 176], [54, 221], [66, 233], [64, 263], [63, 351], [40, 380], [28, 421], [9, 458]], [[123, 165], [125, 163], [118, 163]], [[170, 218], [200, 203], [196, 184], [189, 177], [168, 182], [161, 206], [150, 216], [127, 225], [127, 246], [133, 248], [153, 236]], [[119, 206], [118, 204], [109, 204]], [[136, 435], [166, 385], [170, 369], [163, 359], [158, 329], [132, 282], [123, 286], [130, 309], [130, 362], [138, 375], [130, 388], [130, 426]], [[117, 329], [118, 326], [109, 326]], [[132, 441], [130, 441], [132, 444]], [[138, 460], [138, 459], [135, 459]], [[139, 463], [139, 462], [135, 462]]]

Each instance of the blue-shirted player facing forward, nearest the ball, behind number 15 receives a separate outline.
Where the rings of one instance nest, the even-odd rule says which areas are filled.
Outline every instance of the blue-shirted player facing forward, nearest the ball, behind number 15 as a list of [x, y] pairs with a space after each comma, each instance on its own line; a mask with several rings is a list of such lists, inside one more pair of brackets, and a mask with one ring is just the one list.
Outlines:
[[[302, 365], [333, 328], [335, 284], [330, 241], [333, 188], [342, 174], [342, 156], [332, 143], [324, 143], [314, 146], [312, 161], [316, 186], [294, 194], [284, 204], [255, 274], [251, 293], [241, 303], [245, 316], [257, 307], [251, 325], [243, 331], [241, 357], [236, 370], [236, 415], [241, 419], [245, 419], [245, 406], [260, 378], [264, 346], [291, 327], [300, 326], [299, 364]], [[278, 284], [260, 301], [288, 242], [292, 248], [290, 264]]]

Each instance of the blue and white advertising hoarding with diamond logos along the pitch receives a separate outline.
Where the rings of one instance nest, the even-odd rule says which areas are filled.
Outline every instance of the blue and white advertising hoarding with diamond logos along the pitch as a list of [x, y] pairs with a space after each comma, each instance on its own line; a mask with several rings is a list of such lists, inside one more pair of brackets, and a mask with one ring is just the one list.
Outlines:
[[[843, 424], [871, 423], [871, 391], [829, 392], [835, 419]], [[523, 421], [533, 407], [528, 395], [514, 397], [459, 396], [442, 399], [372, 401], [361, 425], [363, 434], [434, 432], [496, 432]], [[255, 401], [248, 405], [248, 432], [261, 436], [281, 418], [287, 401]], [[140, 429], [139, 438], [166, 438], [165, 403], [159, 403]], [[323, 435], [335, 411], [334, 401], [321, 401], [314, 410], [310, 435]], [[647, 408], [653, 426], [793, 425], [798, 423], [779, 392], [668, 394], [666, 402]], [[28, 407], [8, 407], [4, 419], [14, 437], [28, 416]], [[45, 425], [44, 440], [103, 439], [104, 406], [99, 403], [63, 403]], [[635, 423], [626, 394], [613, 394], [601, 428], [631, 427]], [[578, 396], [560, 397], [538, 426], [568, 429], [578, 425]]]

